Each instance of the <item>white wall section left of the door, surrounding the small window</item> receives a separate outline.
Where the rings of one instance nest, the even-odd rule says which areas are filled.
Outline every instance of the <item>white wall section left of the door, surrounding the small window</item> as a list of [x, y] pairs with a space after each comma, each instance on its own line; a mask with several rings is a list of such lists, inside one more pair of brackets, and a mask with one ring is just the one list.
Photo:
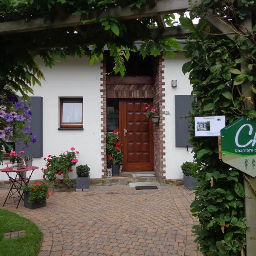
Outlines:
[[[101, 177], [100, 64], [90, 66], [87, 58], [69, 57], [56, 62], [52, 69], [42, 64], [41, 70], [46, 81], [41, 81], [42, 87], [34, 87], [34, 96], [43, 97], [43, 157], [75, 147], [80, 152], [76, 166], [87, 164], [91, 178]], [[61, 96], [83, 97], [84, 130], [58, 131]], [[39, 169], [32, 179], [42, 179], [43, 157], [34, 159], [33, 166]], [[70, 178], [76, 177], [76, 166]], [[0, 172], [0, 180], [7, 180], [7, 175]]]

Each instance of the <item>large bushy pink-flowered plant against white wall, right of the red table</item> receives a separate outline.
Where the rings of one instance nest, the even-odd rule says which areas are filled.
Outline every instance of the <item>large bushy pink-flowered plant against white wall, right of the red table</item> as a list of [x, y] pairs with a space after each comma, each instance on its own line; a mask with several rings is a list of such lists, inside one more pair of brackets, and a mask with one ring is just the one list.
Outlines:
[[72, 172], [72, 166], [75, 166], [78, 162], [77, 154], [79, 154], [79, 151], [72, 147], [70, 151], [63, 151], [59, 155], [49, 154], [48, 157], [44, 157], [46, 168], [42, 169], [44, 172], [43, 179], [54, 181], [54, 185], [58, 186], [61, 181], [56, 175], [63, 175], [63, 183], [70, 187], [72, 183], [69, 179], [69, 172]]

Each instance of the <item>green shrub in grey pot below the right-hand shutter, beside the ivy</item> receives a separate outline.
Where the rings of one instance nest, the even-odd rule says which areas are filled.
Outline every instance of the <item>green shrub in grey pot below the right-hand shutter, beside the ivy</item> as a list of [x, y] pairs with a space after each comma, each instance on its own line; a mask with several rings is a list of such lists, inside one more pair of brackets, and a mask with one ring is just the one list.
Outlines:
[[197, 163], [185, 162], [180, 167], [183, 173], [183, 181], [185, 188], [195, 188], [195, 175], [197, 172]]

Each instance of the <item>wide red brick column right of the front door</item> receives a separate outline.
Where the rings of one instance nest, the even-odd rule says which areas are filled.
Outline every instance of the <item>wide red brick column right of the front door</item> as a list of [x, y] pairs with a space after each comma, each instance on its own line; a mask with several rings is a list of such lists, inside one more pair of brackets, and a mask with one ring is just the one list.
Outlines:
[[164, 58], [161, 56], [158, 59], [157, 71], [154, 79], [154, 108], [158, 108], [159, 111], [159, 124], [154, 124], [153, 128], [153, 142], [154, 142], [154, 172], [160, 179], [166, 179], [165, 177], [165, 134], [164, 134]]

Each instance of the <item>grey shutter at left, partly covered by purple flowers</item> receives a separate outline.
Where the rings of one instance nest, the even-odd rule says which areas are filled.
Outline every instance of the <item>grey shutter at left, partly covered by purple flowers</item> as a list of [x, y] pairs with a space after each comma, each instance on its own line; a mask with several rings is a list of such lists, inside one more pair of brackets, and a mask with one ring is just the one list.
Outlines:
[[29, 143], [29, 147], [23, 149], [24, 144], [20, 143], [16, 146], [16, 151], [24, 150], [26, 156], [32, 155], [33, 157], [43, 156], [43, 98], [31, 97], [29, 100], [31, 106], [32, 120], [30, 123], [31, 131], [37, 137], [36, 143]]

